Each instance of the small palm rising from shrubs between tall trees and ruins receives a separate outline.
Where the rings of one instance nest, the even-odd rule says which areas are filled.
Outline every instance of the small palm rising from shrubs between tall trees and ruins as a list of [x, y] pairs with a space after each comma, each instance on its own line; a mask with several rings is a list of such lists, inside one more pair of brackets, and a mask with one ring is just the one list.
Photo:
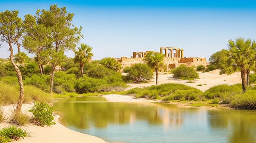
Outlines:
[[81, 47], [78, 47], [78, 51], [75, 51], [74, 62], [79, 63], [82, 77], [85, 63], [89, 62], [93, 56], [92, 47], [87, 44], [81, 44]]

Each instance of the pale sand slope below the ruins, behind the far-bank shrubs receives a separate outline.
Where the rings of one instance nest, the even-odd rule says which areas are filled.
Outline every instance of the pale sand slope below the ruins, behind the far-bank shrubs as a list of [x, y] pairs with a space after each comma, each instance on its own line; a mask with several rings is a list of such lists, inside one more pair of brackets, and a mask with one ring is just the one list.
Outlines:
[[[219, 75], [219, 71], [220, 70], [216, 69], [216, 70], [205, 72], [205, 73], [198, 72], [200, 79], [193, 80], [195, 83], [186, 83], [188, 80], [179, 80], [179, 79], [172, 78], [173, 74], [159, 75], [158, 85], [163, 83], [181, 83], [181, 84], [195, 87], [197, 89], [205, 91], [215, 85], [221, 85], [221, 84], [233, 85], [236, 83], [241, 83], [240, 72], [234, 73], [231, 75], [227, 75], [227, 74]], [[197, 86], [199, 84], [202, 84], [202, 86]], [[126, 90], [135, 88], [135, 87], [148, 87], [150, 85], [155, 85], [155, 77], [150, 83], [140, 83], [140, 84], [132, 83], [128, 85], [130, 85], [130, 87], [128, 87]]]

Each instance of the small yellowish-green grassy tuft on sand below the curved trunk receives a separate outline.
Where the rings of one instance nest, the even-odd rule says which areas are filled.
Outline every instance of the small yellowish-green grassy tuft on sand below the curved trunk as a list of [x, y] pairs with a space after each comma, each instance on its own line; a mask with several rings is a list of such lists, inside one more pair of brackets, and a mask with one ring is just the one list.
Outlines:
[[22, 126], [29, 123], [29, 116], [22, 114], [22, 112], [12, 112], [10, 122]]

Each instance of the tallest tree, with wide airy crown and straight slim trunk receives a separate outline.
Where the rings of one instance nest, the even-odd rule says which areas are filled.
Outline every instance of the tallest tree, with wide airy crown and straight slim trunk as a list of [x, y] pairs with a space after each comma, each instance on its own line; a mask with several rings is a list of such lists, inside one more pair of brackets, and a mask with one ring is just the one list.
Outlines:
[[66, 7], [58, 8], [57, 5], [51, 5], [50, 10], [37, 10], [38, 24], [51, 29], [52, 44], [47, 48], [48, 62], [52, 66], [51, 89], [52, 93], [54, 74], [57, 67], [64, 63], [64, 51], [75, 50], [76, 44], [83, 35], [82, 27], [74, 27], [71, 24], [74, 14], [67, 13]]

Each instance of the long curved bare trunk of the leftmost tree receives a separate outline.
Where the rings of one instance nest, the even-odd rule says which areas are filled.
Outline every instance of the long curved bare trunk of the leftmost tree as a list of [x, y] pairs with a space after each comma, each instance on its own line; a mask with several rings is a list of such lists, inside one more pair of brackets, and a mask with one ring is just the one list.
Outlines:
[[24, 98], [24, 86], [23, 86], [23, 81], [22, 81], [22, 75], [20, 72], [20, 69], [18, 68], [18, 66], [15, 64], [14, 60], [13, 60], [13, 49], [11, 46], [11, 43], [9, 42], [9, 50], [10, 50], [10, 60], [11, 60], [11, 64], [13, 65], [15, 71], [17, 72], [17, 76], [18, 76], [18, 82], [20, 85], [20, 97], [19, 97], [19, 101], [17, 103], [17, 107], [15, 109], [15, 112], [20, 112], [21, 111], [21, 106], [23, 103], [23, 98]]

